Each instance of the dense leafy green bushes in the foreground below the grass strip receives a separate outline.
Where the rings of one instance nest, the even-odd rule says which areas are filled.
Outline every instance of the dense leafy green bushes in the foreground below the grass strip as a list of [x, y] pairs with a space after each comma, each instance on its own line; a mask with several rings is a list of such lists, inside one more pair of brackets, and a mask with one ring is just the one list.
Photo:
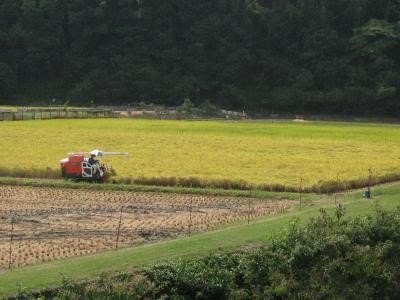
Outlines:
[[16, 299], [399, 299], [400, 209], [293, 221], [265, 248], [181, 259]]

